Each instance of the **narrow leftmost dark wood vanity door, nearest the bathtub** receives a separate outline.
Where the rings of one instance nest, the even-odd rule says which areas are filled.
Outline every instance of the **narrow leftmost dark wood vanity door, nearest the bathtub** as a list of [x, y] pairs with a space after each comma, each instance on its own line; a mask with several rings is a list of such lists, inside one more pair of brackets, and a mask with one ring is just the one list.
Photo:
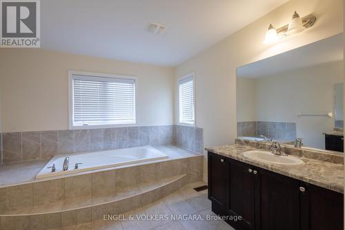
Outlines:
[[226, 160], [218, 154], [208, 153], [208, 198], [225, 210]]

